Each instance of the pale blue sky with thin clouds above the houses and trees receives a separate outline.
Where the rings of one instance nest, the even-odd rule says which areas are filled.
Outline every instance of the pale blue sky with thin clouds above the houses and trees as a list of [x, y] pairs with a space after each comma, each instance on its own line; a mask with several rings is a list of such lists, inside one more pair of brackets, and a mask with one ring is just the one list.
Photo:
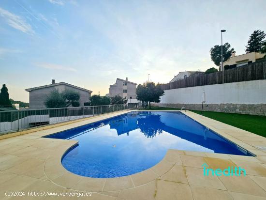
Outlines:
[[0, 84], [25, 89], [67, 82], [105, 95], [116, 78], [167, 83], [216, 67], [210, 48], [245, 53], [266, 31], [266, 0], [1, 0]]

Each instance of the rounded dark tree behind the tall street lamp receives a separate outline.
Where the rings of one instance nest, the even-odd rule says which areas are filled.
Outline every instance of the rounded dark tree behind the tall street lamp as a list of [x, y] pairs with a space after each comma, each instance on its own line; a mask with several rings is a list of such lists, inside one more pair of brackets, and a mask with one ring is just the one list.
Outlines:
[[222, 62], [225, 62], [231, 57], [235, 49], [234, 48], [230, 49], [230, 47], [231, 45], [229, 43], [225, 43], [223, 46], [215, 45], [210, 48], [210, 57], [216, 66], [220, 65], [221, 59], [222, 59]]

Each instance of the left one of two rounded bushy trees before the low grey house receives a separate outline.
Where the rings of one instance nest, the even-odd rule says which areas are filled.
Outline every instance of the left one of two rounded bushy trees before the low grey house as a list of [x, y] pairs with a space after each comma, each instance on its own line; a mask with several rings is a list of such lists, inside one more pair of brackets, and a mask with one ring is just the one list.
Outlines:
[[65, 108], [67, 103], [62, 93], [53, 90], [45, 99], [44, 105], [46, 108]]

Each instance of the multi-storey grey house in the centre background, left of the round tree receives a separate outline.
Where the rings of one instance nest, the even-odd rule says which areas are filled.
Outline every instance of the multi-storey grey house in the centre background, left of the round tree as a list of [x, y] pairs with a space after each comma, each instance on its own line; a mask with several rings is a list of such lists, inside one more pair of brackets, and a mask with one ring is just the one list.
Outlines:
[[137, 83], [133, 83], [131, 81], [128, 81], [128, 78], [121, 79], [117, 78], [117, 81], [115, 84], [110, 85], [109, 87], [109, 93], [107, 96], [113, 97], [115, 95], [119, 95], [123, 97], [123, 99], [128, 99], [128, 104], [135, 104], [138, 103], [137, 101], [137, 95], [136, 95], [136, 88]]

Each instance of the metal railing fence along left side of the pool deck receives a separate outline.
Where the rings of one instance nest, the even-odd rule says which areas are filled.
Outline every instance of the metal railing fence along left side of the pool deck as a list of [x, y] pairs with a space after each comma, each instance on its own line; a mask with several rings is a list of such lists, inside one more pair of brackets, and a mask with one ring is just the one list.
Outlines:
[[135, 108], [135, 105], [129, 104], [0, 111], [0, 134], [27, 129], [34, 126], [82, 119], [130, 108]]

